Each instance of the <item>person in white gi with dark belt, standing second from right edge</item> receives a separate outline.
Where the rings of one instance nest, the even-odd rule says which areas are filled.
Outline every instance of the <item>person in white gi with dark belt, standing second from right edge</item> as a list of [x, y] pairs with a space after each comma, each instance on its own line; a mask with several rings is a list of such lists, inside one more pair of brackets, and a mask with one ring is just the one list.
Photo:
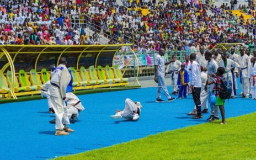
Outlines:
[[240, 48], [240, 55], [237, 58], [237, 63], [241, 66], [239, 70], [240, 83], [242, 87], [242, 97], [249, 98], [249, 68], [250, 68], [250, 58], [245, 54], [244, 48]]

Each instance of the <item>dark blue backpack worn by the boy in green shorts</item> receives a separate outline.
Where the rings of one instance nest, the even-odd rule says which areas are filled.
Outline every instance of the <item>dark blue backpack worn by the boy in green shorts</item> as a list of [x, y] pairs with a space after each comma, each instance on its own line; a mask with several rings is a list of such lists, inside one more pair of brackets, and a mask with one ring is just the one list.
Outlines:
[[220, 98], [222, 99], [230, 99], [232, 94], [232, 82], [222, 77], [218, 77], [221, 81], [221, 90], [218, 91]]

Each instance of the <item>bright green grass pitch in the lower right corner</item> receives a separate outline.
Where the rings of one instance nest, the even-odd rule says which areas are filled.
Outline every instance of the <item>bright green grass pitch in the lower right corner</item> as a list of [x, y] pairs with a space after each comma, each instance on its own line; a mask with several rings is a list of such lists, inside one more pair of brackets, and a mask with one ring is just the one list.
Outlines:
[[[256, 113], [185, 127], [60, 159], [256, 159]], [[84, 137], [86, 138], [86, 136]]]

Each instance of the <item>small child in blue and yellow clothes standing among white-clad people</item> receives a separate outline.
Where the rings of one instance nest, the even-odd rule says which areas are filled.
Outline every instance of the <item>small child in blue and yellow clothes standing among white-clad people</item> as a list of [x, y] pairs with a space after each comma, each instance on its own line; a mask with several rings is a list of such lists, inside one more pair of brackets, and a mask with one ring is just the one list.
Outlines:
[[179, 99], [186, 98], [186, 88], [189, 82], [189, 74], [188, 71], [185, 70], [185, 64], [183, 63], [181, 66], [181, 70], [178, 73], [178, 81], [177, 85], [179, 86]]

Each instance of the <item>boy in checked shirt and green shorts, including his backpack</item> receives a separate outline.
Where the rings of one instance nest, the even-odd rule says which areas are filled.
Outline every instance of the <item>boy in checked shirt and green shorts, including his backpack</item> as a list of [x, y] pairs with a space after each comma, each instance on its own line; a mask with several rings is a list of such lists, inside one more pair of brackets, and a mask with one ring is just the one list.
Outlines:
[[214, 90], [212, 91], [216, 97], [216, 106], [219, 106], [221, 111], [221, 125], [226, 124], [225, 120], [225, 99], [229, 99], [232, 93], [232, 83], [231, 81], [225, 80], [223, 77], [223, 73], [225, 73], [224, 67], [218, 67], [217, 73], [214, 79], [210, 81], [210, 77], [208, 76], [206, 85], [215, 84]]

